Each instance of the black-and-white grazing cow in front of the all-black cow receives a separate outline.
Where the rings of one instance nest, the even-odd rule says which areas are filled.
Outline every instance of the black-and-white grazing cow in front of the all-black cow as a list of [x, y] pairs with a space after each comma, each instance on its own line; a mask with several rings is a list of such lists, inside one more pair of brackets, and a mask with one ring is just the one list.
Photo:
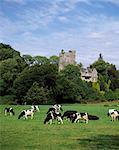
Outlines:
[[73, 114], [72, 123], [79, 122], [80, 119], [85, 120], [85, 123], [87, 124], [88, 120], [89, 120], [88, 119], [88, 113], [85, 112], [85, 113], [75, 113], [75, 114]]

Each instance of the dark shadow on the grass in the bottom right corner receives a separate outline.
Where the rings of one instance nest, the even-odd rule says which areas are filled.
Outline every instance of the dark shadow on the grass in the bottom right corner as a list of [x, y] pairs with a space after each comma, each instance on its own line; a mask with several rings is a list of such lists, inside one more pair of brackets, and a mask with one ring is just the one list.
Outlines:
[[119, 135], [98, 135], [96, 137], [77, 139], [85, 149], [115, 150], [119, 149]]

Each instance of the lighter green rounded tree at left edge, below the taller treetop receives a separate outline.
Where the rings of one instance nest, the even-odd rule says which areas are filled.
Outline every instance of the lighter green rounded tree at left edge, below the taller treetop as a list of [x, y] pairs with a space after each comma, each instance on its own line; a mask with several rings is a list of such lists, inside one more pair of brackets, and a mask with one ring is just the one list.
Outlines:
[[2, 82], [4, 82], [4, 90], [2, 89], [1, 91], [2, 95], [12, 92], [13, 82], [25, 66], [25, 62], [19, 57], [0, 61], [0, 75]]

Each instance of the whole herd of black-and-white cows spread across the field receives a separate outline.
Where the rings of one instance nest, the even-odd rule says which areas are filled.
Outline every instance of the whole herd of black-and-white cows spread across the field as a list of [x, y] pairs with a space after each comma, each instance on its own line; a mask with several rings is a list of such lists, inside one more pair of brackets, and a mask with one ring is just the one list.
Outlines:
[[[30, 109], [21, 111], [18, 116], [18, 119], [20, 118], [28, 119], [29, 116], [31, 117], [31, 119], [33, 119], [34, 113], [36, 111], [39, 112], [40, 109], [37, 105], [33, 105], [31, 106]], [[70, 120], [72, 123], [77, 123], [80, 120], [84, 120], [85, 123], [88, 123], [89, 120], [99, 120], [98, 116], [90, 115], [87, 112], [79, 113], [75, 110], [68, 110], [65, 111], [62, 115], [61, 111], [63, 111], [62, 105], [55, 104], [51, 106], [46, 113], [44, 124], [52, 124], [53, 120], [57, 120], [58, 123], [63, 124], [64, 119]], [[15, 112], [11, 107], [10, 108], [6, 107], [4, 109], [4, 113], [5, 115], [9, 114], [10, 116], [15, 115]], [[112, 121], [119, 120], [119, 111], [116, 109], [109, 109], [107, 115], [111, 117]]]

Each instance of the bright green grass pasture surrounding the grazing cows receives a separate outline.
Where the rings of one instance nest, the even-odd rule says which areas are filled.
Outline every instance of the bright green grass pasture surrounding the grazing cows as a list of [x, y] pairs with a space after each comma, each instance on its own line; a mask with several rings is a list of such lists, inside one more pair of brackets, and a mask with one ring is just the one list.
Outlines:
[[[115, 106], [114, 106], [115, 105]], [[97, 121], [72, 124], [64, 121], [44, 125], [43, 121], [50, 106], [41, 105], [34, 119], [18, 120], [21, 110], [30, 106], [12, 106], [15, 116], [4, 116], [0, 106], [0, 150], [115, 150], [119, 149], [119, 121], [111, 122], [107, 117], [109, 108], [119, 109], [116, 103], [104, 104], [65, 104], [64, 111], [77, 110], [100, 117]], [[63, 112], [64, 112], [63, 111]]]

